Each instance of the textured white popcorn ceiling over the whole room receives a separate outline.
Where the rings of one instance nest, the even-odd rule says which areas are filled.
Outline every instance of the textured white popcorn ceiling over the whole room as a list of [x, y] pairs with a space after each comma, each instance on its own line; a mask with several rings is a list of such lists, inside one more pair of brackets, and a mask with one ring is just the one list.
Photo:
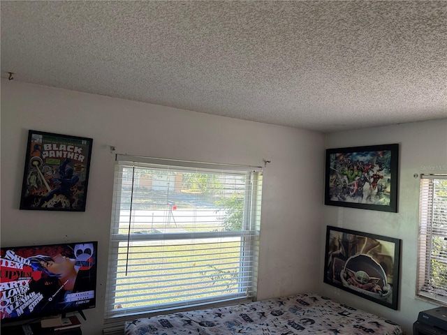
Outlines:
[[1, 72], [323, 132], [441, 119], [447, 1], [1, 1]]

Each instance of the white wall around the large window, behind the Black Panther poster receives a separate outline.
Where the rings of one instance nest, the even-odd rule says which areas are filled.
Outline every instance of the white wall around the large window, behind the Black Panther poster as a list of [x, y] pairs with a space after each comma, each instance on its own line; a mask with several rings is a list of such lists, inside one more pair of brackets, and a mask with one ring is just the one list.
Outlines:
[[[20, 211], [29, 129], [92, 137], [87, 210]], [[1, 82], [1, 246], [98, 240], [98, 303], [85, 334], [101, 334], [114, 155], [246, 165], [264, 173], [258, 298], [314, 292], [323, 220], [324, 136], [170, 107]], [[317, 280], [318, 278], [318, 280]]]

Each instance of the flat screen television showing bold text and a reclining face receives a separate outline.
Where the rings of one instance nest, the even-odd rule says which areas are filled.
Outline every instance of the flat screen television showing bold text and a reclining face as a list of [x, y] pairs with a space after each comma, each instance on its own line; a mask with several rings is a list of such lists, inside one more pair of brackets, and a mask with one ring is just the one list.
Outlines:
[[0, 248], [1, 323], [96, 304], [98, 242]]

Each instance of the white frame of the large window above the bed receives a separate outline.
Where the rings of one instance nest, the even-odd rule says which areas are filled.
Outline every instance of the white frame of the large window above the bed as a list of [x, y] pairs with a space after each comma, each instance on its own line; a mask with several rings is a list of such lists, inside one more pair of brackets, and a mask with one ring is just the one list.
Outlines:
[[[131, 158], [131, 159], [129, 159]], [[111, 232], [110, 232], [110, 251], [109, 251], [109, 261], [108, 261], [108, 287], [106, 288], [106, 294], [105, 294], [105, 323], [110, 322], [111, 320], [115, 318], [128, 318], [129, 316], [135, 317], [135, 315], [152, 315], [154, 313], [163, 313], [163, 312], [169, 312], [173, 313], [173, 311], [176, 310], [185, 310], [188, 308], [197, 308], [197, 306], [201, 306], [202, 308], [205, 308], [207, 306], [219, 306], [219, 305], [228, 305], [228, 304], [235, 304], [245, 301], [252, 301], [254, 297], [256, 297], [256, 285], [257, 285], [257, 262], [258, 262], [258, 239], [260, 234], [260, 225], [261, 225], [261, 190], [258, 190], [258, 182], [261, 183], [262, 187], [262, 172], [263, 169], [261, 167], [254, 167], [254, 166], [247, 166], [247, 165], [226, 165], [226, 164], [216, 164], [216, 163], [200, 163], [200, 162], [192, 162], [192, 161], [177, 161], [177, 160], [166, 160], [161, 158], [144, 158], [144, 157], [135, 157], [135, 156], [126, 156], [126, 155], [117, 155], [116, 158], [116, 172], [123, 172], [124, 165], [129, 165], [129, 163], [132, 163], [134, 169], [135, 166], [137, 167], [143, 167], [147, 168], [150, 166], [158, 166], [159, 168], [164, 167], [170, 167], [175, 168], [175, 170], [182, 170], [182, 169], [190, 169], [190, 168], [196, 168], [201, 171], [214, 171], [217, 172], [218, 170], [226, 171], [228, 170], [228, 173], [237, 172], [240, 173], [241, 176], [243, 175], [242, 172], [246, 172], [246, 178], [248, 178], [245, 181], [245, 195], [244, 195], [244, 221], [243, 225], [244, 227], [242, 230], [236, 230], [236, 231], [224, 231], [224, 232], [179, 232], [179, 233], [170, 233], [170, 234], [164, 234], [163, 238], [161, 238], [161, 235], [159, 234], [114, 234], [115, 229], [119, 229], [119, 220], [117, 221], [115, 218], [119, 217], [119, 212], [121, 209], [119, 206], [115, 206], [115, 204], [119, 203], [117, 202], [117, 199], [119, 199], [120, 191], [117, 190], [117, 187], [122, 187], [122, 185], [127, 184], [124, 183], [124, 179], [122, 179], [121, 184], [117, 184], [117, 177], [114, 178], [114, 203], [112, 208], [112, 222], [111, 222]], [[150, 168], [149, 166], [149, 168]], [[189, 170], [191, 172], [191, 170]], [[247, 172], [258, 172], [258, 173], [251, 173], [247, 174]], [[135, 174], [135, 170], [132, 174]], [[250, 177], [249, 177], [250, 176]], [[256, 180], [256, 176], [260, 180]], [[255, 179], [255, 180], [253, 180]], [[132, 182], [132, 185], [135, 183], [135, 181]], [[247, 189], [247, 184], [252, 184], [249, 186], [249, 189]], [[255, 185], [256, 184], [256, 185]], [[256, 186], [256, 187], [255, 187]], [[260, 192], [260, 194], [256, 194], [256, 192]], [[132, 191], [133, 192], [133, 191]], [[252, 201], [257, 202], [256, 204], [251, 203]], [[221, 237], [240, 237], [241, 239], [241, 246], [240, 246], [240, 252], [244, 252], [246, 250], [252, 250], [254, 246], [250, 246], [250, 248], [247, 248], [244, 246], [246, 243], [250, 244], [256, 244], [255, 247], [256, 255], [252, 255], [250, 258], [250, 261], [248, 262], [250, 265], [246, 268], [244, 268], [244, 273], [249, 272], [251, 273], [251, 277], [253, 277], [253, 285], [251, 289], [247, 288], [247, 292], [244, 292], [242, 295], [242, 292], [238, 292], [237, 297], [231, 297], [228, 299], [227, 297], [223, 297], [223, 299], [216, 299], [215, 297], [211, 299], [204, 299], [204, 301], [199, 301], [199, 304], [182, 304], [182, 303], [173, 303], [173, 304], [161, 304], [159, 305], [160, 308], [147, 308], [147, 306], [142, 306], [141, 308], [131, 308], [132, 311], [121, 313], [121, 311], [116, 311], [112, 308], [112, 306], [115, 305], [115, 295], [112, 293], [115, 293], [116, 287], [117, 287], [117, 280], [116, 280], [116, 274], [118, 269], [118, 260], [119, 260], [119, 253], [118, 248], [119, 244], [122, 242], [128, 242], [129, 241], [151, 241], [151, 240], [159, 240], [159, 241], [170, 241], [170, 240], [176, 240], [176, 239], [184, 239], [187, 237], [193, 237], [195, 239], [203, 239], [203, 238], [221, 238]], [[256, 237], [256, 239], [253, 239], [253, 237]], [[246, 240], [246, 237], [250, 237]], [[245, 256], [242, 255], [240, 257], [241, 261], [244, 259]], [[240, 266], [242, 264], [240, 263]], [[115, 278], [112, 278], [113, 274], [115, 274]], [[229, 302], [231, 301], [231, 302]]]

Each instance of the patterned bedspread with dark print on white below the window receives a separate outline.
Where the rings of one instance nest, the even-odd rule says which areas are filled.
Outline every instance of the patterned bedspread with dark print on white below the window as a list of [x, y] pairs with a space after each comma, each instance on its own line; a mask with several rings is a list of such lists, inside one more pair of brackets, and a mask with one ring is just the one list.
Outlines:
[[126, 335], [402, 334], [390, 320], [316, 294], [126, 322]]

